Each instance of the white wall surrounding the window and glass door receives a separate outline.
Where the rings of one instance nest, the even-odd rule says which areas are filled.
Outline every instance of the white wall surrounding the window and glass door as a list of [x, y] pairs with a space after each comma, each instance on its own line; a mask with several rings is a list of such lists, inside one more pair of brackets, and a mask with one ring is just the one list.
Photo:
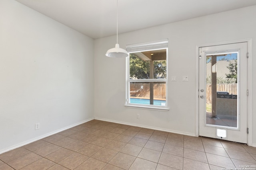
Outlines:
[[[196, 134], [196, 45], [221, 43], [252, 38], [253, 54], [256, 53], [256, 6], [241, 8], [210, 16], [170, 23], [118, 35], [120, 47], [125, 45], [169, 39], [168, 105], [170, 111], [152, 111], [124, 107], [126, 60], [105, 56], [114, 47], [116, 36], [94, 41], [94, 115], [97, 119], [123, 122], [139, 126], [174, 131], [187, 135]], [[252, 65], [256, 60], [252, 59]], [[253, 77], [256, 68], [252, 68]], [[182, 82], [182, 76], [189, 76]], [[253, 129], [256, 129], [256, 79], [252, 82]], [[136, 114], [140, 113], [140, 119]], [[256, 130], [252, 143], [256, 146]]]

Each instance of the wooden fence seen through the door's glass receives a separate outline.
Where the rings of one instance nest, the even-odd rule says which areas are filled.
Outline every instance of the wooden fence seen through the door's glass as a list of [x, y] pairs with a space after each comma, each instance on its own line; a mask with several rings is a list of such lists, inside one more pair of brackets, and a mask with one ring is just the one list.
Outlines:
[[[237, 95], [237, 84], [217, 84], [217, 92], [228, 92]], [[212, 103], [212, 85], [206, 84], [206, 103]]]

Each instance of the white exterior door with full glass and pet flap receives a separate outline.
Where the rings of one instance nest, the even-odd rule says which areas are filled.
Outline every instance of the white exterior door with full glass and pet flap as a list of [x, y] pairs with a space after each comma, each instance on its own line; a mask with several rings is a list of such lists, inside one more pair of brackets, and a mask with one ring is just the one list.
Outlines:
[[199, 55], [199, 135], [247, 143], [247, 42]]

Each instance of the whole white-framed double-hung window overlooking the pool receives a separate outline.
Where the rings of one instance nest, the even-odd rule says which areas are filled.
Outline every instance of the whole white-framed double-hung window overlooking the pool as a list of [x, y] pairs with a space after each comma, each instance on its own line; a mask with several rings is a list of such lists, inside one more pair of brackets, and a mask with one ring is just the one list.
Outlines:
[[168, 40], [127, 45], [126, 106], [167, 109]]

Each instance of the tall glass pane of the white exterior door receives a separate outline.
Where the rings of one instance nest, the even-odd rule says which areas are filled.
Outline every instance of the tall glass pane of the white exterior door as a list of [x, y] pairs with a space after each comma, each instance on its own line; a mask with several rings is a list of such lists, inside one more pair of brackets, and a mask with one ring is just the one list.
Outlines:
[[206, 56], [206, 124], [238, 127], [238, 53]]

